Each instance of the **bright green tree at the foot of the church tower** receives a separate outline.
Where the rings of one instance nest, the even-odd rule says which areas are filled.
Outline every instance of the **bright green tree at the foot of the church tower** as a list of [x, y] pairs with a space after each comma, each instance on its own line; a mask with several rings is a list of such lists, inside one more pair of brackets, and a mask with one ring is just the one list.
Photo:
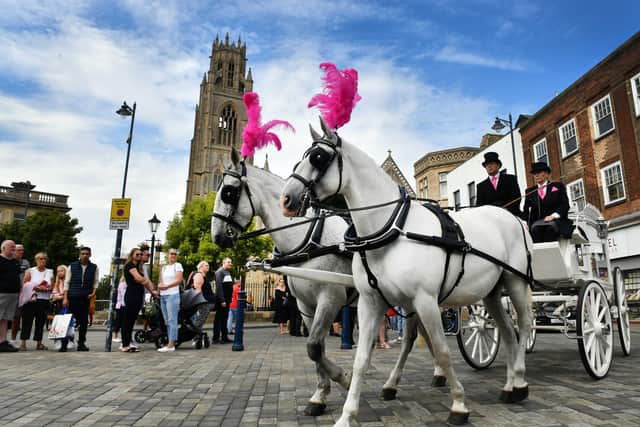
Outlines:
[[[178, 261], [185, 269], [185, 280], [200, 261], [211, 264], [211, 272], [219, 267], [224, 257], [231, 257], [234, 275], [240, 276], [249, 257], [264, 258], [273, 251], [273, 241], [268, 236], [240, 240], [235, 248], [223, 250], [211, 240], [211, 212], [215, 193], [206, 198], [194, 199], [176, 214], [167, 229], [165, 249], [178, 249]], [[252, 230], [252, 223], [249, 230]]]

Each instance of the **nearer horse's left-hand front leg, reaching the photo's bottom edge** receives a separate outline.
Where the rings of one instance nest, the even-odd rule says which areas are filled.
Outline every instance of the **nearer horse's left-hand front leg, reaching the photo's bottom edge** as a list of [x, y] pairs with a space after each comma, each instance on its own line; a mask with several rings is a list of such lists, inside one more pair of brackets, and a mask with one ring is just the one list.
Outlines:
[[358, 348], [353, 361], [351, 385], [347, 393], [347, 400], [342, 407], [342, 415], [335, 424], [337, 427], [349, 427], [351, 421], [358, 414], [364, 374], [371, 362], [371, 354], [385, 312], [382, 302], [375, 296], [361, 293], [359, 298], [358, 325], [360, 325], [360, 334], [358, 335]]

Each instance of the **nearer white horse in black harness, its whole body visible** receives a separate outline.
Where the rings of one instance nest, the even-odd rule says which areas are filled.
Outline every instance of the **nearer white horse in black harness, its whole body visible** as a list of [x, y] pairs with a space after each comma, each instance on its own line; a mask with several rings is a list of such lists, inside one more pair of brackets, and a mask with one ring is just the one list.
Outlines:
[[[294, 169], [282, 190], [280, 205], [285, 216], [304, 213], [310, 197], [320, 200], [333, 194], [341, 194], [350, 209], [384, 204], [399, 197], [397, 185], [363, 151], [342, 141], [321, 120], [324, 135], [312, 129], [313, 145]], [[371, 236], [388, 223], [394, 205], [363, 211], [352, 211], [358, 236]], [[504, 209], [485, 206], [452, 213], [461, 226], [466, 241], [474, 248], [490, 254], [511, 267], [527, 271], [527, 248], [531, 238], [524, 233], [518, 219]], [[521, 337], [529, 336], [530, 303], [527, 283], [524, 279], [495, 263], [469, 254], [464, 263], [464, 275], [454, 287], [462, 266], [462, 256], [451, 257], [449, 273], [445, 278], [445, 251], [407, 238], [407, 232], [428, 236], [441, 236], [437, 217], [417, 202], [411, 202], [406, 223], [400, 237], [384, 247], [363, 253], [378, 290], [370, 286], [363, 258], [353, 259], [353, 278], [360, 293], [358, 321], [360, 335], [354, 360], [351, 387], [336, 423], [347, 426], [358, 412], [364, 373], [369, 365], [376, 331], [387, 304], [400, 305], [408, 312], [415, 312], [425, 325], [435, 359], [445, 372], [451, 388], [453, 404], [449, 422], [467, 422], [469, 411], [464, 402], [464, 389], [458, 381], [450, 361], [450, 350], [445, 340], [438, 300], [447, 306], [473, 304], [482, 299], [495, 319], [507, 350], [507, 381], [500, 399], [516, 402], [528, 396], [525, 381], [526, 339], [518, 341], [511, 319], [507, 316], [500, 298], [506, 290], [518, 314]], [[444, 280], [444, 286], [441, 284]], [[375, 282], [374, 282], [375, 283]], [[450, 292], [450, 293], [449, 293]], [[385, 301], [386, 299], [386, 301]]]

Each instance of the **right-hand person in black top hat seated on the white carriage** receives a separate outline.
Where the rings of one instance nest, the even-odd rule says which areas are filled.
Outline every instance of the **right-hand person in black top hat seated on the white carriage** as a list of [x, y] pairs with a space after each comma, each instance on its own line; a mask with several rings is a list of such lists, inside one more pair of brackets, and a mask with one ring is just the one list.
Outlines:
[[569, 198], [561, 182], [550, 182], [551, 168], [544, 162], [531, 166], [536, 185], [525, 192], [522, 218], [529, 224], [533, 241], [553, 242], [561, 235], [571, 237], [573, 224], [567, 217]]

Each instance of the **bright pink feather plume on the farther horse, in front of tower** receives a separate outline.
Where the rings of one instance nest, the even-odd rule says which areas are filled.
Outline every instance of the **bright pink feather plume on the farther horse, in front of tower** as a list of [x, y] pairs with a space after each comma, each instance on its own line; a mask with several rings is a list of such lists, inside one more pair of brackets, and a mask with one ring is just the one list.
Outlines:
[[264, 125], [260, 124], [260, 99], [255, 92], [247, 92], [242, 97], [242, 102], [247, 110], [247, 125], [242, 131], [242, 155], [253, 156], [257, 149], [265, 147], [273, 143], [278, 150], [282, 148], [280, 138], [273, 132], [269, 132], [271, 128], [282, 125], [295, 132], [291, 123], [285, 120], [271, 120]]

